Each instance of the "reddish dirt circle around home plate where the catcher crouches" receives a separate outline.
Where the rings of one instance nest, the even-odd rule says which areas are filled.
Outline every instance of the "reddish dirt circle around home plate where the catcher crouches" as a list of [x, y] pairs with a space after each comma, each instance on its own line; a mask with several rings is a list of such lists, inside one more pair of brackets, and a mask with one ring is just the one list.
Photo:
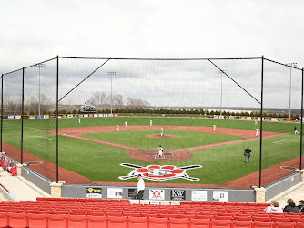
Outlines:
[[144, 161], [180, 161], [190, 159], [193, 155], [187, 151], [164, 150], [163, 157], [157, 157], [156, 150], [133, 150], [127, 156]]

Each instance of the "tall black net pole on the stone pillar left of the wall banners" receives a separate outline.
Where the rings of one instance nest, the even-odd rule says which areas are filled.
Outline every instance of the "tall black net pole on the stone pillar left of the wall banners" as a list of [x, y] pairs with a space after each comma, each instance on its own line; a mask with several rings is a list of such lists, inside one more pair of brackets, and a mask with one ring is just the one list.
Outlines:
[[59, 181], [59, 144], [58, 144], [58, 128], [59, 128], [59, 56], [57, 56], [57, 73], [56, 73], [56, 182]]

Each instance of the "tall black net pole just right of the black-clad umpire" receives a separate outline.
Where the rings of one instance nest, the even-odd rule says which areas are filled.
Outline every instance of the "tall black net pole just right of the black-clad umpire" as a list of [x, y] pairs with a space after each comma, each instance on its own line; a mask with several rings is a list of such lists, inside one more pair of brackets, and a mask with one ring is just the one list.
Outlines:
[[259, 134], [259, 178], [258, 187], [262, 185], [262, 140], [263, 140], [263, 87], [264, 87], [264, 56], [262, 56], [262, 73], [260, 79], [260, 134]]

